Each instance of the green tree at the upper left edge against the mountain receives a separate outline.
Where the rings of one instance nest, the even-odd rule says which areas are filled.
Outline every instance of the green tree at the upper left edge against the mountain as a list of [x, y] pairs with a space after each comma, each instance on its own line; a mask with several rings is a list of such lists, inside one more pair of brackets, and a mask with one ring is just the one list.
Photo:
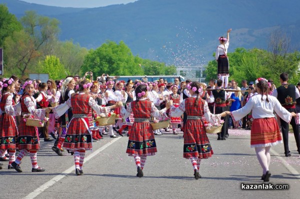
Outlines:
[[0, 47], [3, 46], [4, 39], [14, 31], [22, 29], [21, 23], [14, 14], [9, 13], [4, 4], [0, 4]]

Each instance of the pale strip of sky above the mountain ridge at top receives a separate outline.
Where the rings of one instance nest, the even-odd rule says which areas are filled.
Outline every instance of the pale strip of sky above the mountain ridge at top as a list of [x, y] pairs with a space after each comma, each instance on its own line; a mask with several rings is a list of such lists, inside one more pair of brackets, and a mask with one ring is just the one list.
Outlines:
[[59, 7], [101, 7], [112, 4], [134, 2], [136, 0], [22, 0], [29, 3], [53, 5]]

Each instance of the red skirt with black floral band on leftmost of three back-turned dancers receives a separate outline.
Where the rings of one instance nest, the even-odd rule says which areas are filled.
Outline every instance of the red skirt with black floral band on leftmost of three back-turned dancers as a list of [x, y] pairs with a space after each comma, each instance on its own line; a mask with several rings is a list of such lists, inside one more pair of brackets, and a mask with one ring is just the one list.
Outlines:
[[73, 117], [67, 128], [62, 146], [68, 150], [90, 150], [92, 148], [91, 142], [87, 117]]

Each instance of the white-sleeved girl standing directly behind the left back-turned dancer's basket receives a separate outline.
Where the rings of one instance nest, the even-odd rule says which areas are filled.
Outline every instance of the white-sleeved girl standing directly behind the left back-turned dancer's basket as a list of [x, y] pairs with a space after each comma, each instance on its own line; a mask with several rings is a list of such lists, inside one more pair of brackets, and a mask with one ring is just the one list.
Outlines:
[[[105, 91], [105, 99], [107, 101], [106, 106], [113, 105], [116, 101], [121, 101], [123, 99], [123, 94], [121, 94], [121, 95], [114, 94], [114, 92], [112, 90], [113, 85], [114, 85], [114, 81], [110, 80], [110, 81], [106, 82], [106, 86], [107, 86], [107, 89]], [[114, 109], [112, 109], [112, 110], [114, 110]], [[112, 125], [108, 126], [108, 130], [109, 130], [110, 137], [117, 137], [112, 132]], [[123, 136], [122, 133], [119, 133], [119, 135]]]

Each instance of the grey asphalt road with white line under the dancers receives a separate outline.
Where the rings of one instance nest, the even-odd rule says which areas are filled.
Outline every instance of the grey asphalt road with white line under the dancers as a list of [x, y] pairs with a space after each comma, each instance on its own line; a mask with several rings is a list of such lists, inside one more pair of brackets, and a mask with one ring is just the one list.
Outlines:
[[[182, 157], [182, 134], [155, 136], [158, 152], [148, 156], [144, 176], [136, 177], [133, 157], [125, 153], [126, 136], [104, 137], [93, 143], [83, 164], [84, 175], [74, 172], [73, 156], [57, 156], [52, 142], [41, 141], [38, 165], [45, 172], [32, 173], [29, 156], [22, 173], [0, 170], [0, 198], [298, 198], [300, 156], [293, 136], [291, 157], [284, 157], [283, 144], [271, 148], [270, 183], [288, 184], [288, 190], [242, 190], [241, 184], [262, 184], [262, 169], [249, 145], [249, 130], [231, 130], [227, 140], [209, 134], [214, 154], [202, 159], [200, 174], [193, 177], [189, 159]], [[268, 183], [265, 183], [268, 184]]]

